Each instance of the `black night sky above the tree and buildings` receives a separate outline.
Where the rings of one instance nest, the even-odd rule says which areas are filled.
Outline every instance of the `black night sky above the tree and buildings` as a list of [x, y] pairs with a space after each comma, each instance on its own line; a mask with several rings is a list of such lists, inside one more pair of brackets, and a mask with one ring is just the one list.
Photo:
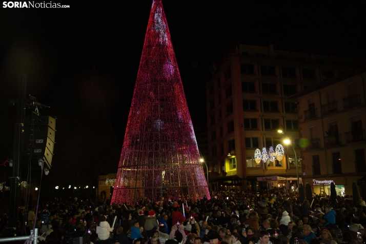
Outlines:
[[[119, 154], [152, 1], [59, 3], [70, 8], [0, 9], [1, 162], [12, 156], [15, 109], [7, 107], [6, 100], [16, 97], [21, 72], [28, 75], [27, 93], [51, 107], [41, 113], [58, 117], [55, 164], [66, 160], [57, 147], [67, 150], [76, 140], [70, 121], [82, 106], [79, 89], [92, 70], [111, 113]], [[242, 44], [274, 44], [275, 49], [366, 57], [366, 6], [361, 1], [162, 3], [194, 126], [206, 123], [210, 60], [218, 63], [237, 39]], [[63, 137], [66, 131], [68, 136]], [[118, 161], [111, 164], [117, 167]], [[54, 167], [63, 172], [62, 178], [70, 177], [60, 166]]]

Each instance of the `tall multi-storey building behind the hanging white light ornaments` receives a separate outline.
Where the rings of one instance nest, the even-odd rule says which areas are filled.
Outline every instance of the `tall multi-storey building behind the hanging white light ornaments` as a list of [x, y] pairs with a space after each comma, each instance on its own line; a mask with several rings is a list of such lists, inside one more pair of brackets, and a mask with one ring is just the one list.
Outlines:
[[[228, 52], [206, 84], [209, 157], [205, 160], [211, 188], [296, 188], [298, 106], [288, 97], [354, 70], [361, 62], [274, 50], [272, 45], [237, 45]], [[284, 147], [282, 160], [257, 163], [256, 149], [269, 152], [284, 137], [293, 147]], [[301, 181], [301, 159], [298, 164]]]

